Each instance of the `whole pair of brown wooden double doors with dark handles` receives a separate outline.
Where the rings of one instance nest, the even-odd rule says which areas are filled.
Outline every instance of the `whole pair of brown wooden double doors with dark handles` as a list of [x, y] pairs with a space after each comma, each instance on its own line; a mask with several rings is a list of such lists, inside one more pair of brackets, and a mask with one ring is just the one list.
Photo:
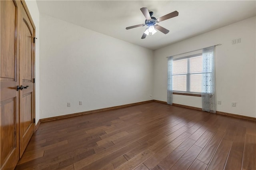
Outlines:
[[0, 1], [1, 170], [15, 168], [34, 132], [35, 27], [27, 12], [24, 1]]

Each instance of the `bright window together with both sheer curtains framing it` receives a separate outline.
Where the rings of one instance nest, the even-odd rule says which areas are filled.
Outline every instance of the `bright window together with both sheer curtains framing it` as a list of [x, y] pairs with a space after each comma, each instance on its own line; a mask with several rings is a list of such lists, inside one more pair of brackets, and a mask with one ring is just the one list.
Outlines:
[[168, 57], [167, 104], [172, 105], [175, 93], [198, 96], [203, 111], [216, 113], [215, 46], [203, 48], [200, 54], [174, 56]]

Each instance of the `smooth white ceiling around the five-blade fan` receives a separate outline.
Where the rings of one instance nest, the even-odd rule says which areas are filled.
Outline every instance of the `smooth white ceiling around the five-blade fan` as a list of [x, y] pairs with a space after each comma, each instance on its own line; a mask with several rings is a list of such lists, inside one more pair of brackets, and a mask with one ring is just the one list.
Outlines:
[[[256, 16], [256, 1], [88, 1], [88, 0], [37, 0], [40, 13], [100, 32], [148, 49], [214, 30], [252, 16]], [[128, 26], [144, 24], [140, 8], [147, 7], [159, 18], [177, 10], [179, 15], [158, 25], [170, 30], [158, 31], [141, 39], [144, 27], [126, 30]]]

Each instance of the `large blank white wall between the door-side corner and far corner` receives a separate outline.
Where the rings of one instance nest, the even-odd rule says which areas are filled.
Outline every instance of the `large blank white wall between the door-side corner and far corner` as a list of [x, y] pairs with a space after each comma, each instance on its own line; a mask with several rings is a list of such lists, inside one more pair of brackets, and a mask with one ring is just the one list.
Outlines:
[[152, 100], [152, 75], [153, 51], [40, 14], [40, 119]]

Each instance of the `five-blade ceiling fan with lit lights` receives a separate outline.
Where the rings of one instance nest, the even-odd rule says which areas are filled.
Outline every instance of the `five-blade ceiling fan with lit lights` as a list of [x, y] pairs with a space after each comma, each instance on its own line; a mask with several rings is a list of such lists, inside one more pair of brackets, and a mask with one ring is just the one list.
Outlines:
[[[132, 29], [132, 28], [136, 28], [136, 27], [142, 27], [142, 26], [148, 26], [148, 28], [146, 28], [145, 32], [143, 33], [141, 39], [146, 38], [146, 36], [150, 35], [150, 34], [155, 34], [156, 30], [159, 30], [160, 32], [167, 34], [169, 32], [169, 30], [167, 30], [164, 27], [161, 27], [159, 25], [156, 25], [156, 23], [164, 21], [164, 20], [168, 20], [170, 18], [176, 17], [179, 15], [178, 11], [174, 11], [171, 12], [170, 14], [166, 14], [164, 16], [161, 16], [160, 18], [155, 18], [152, 15], [154, 14], [152, 11], [148, 11], [148, 8], [140, 8], [142, 14], [145, 16], [146, 20], [145, 20], [145, 24], [139, 24], [136, 26], [130, 26], [130, 27], [126, 27], [126, 30]], [[156, 30], [155, 30], [156, 29]]]

